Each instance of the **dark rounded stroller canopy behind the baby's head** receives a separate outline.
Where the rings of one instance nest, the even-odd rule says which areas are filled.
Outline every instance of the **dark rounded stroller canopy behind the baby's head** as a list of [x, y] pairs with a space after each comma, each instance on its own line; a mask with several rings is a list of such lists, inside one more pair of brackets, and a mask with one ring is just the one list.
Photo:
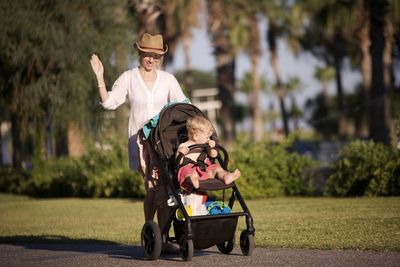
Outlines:
[[171, 104], [161, 110], [157, 126], [150, 134], [150, 144], [161, 159], [175, 156], [179, 144], [187, 140], [186, 120], [194, 116], [206, 117], [200, 109], [186, 103]]

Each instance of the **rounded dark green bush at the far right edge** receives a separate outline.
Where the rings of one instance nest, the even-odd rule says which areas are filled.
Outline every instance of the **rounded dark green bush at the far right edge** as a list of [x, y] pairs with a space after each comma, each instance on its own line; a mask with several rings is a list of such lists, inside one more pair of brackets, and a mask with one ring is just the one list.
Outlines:
[[397, 196], [400, 153], [373, 141], [353, 141], [332, 165], [326, 194], [333, 196]]

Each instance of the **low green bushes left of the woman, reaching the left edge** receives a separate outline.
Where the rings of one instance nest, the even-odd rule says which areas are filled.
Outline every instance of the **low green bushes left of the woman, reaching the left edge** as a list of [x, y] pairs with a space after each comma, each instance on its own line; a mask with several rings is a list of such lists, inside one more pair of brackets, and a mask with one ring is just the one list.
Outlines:
[[0, 189], [35, 197], [143, 197], [143, 178], [128, 168], [124, 147], [107, 140], [91, 145], [79, 159], [39, 161], [30, 171], [4, 169]]

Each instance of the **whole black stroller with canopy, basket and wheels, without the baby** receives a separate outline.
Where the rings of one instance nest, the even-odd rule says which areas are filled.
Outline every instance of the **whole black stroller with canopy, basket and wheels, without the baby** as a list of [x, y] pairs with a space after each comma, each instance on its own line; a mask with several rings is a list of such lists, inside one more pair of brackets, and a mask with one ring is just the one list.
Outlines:
[[[147, 221], [142, 228], [141, 243], [145, 257], [149, 260], [158, 259], [163, 245], [168, 242], [179, 244], [182, 258], [185, 261], [192, 259], [194, 249], [206, 249], [215, 245], [222, 253], [229, 254], [235, 245], [235, 230], [240, 216], [246, 218], [247, 226], [246, 230], [243, 230], [240, 234], [241, 251], [244, 255], [249, 256], [254, 250], [255, 229], [253, 227], [253, 218], [235, 183], [225, 185], [219, 179], [208, 179], [200, 181], [198, 190], [202, 192], [222, 191], [222, 201], [225, 201], [225, 192], [231, 192], [228, 206], [232, 209], [237, 199], [241, 206], [241, 212], [189, 216], [179, 197], [177, 163], [182, 155], [176, 159], [175, 153], [178, 145], [186, 141], [186, 120], [196, 115], [205, 117], [197, 107], [191, 104], [171, 104], [160, 112], [158, 123], [151, 131], [148, 139], [159, 161], [160, 182], [167, 186], [167, 189], [176, 200], [176, 205], [170, 207], [170, 216], [163, 229], [160, 229], [154, 221]], [[212, 138], [217, 139], [216, 134]], [[190, 150], [199, 148], [206, 149], [208, 145], [193, 145], [189, 147]], [[224, 169], [227, 169], [228, 154], [226, 150], [218, 144], [216, 148], [218, 150], [218, 163]], [[176, 217], [178, 209], [184, 217], [183, 220], [178, 220]], [[171, 224], [173, 225], [175, 236], [169, 236]]]

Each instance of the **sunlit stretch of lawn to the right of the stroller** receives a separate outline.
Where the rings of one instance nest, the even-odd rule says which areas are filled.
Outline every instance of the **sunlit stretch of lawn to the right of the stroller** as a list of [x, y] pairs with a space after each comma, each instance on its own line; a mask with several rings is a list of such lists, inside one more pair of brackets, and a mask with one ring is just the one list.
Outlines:
[[400, 250], [399, 198], [280, 198], [249, 206], [257, 245]]

